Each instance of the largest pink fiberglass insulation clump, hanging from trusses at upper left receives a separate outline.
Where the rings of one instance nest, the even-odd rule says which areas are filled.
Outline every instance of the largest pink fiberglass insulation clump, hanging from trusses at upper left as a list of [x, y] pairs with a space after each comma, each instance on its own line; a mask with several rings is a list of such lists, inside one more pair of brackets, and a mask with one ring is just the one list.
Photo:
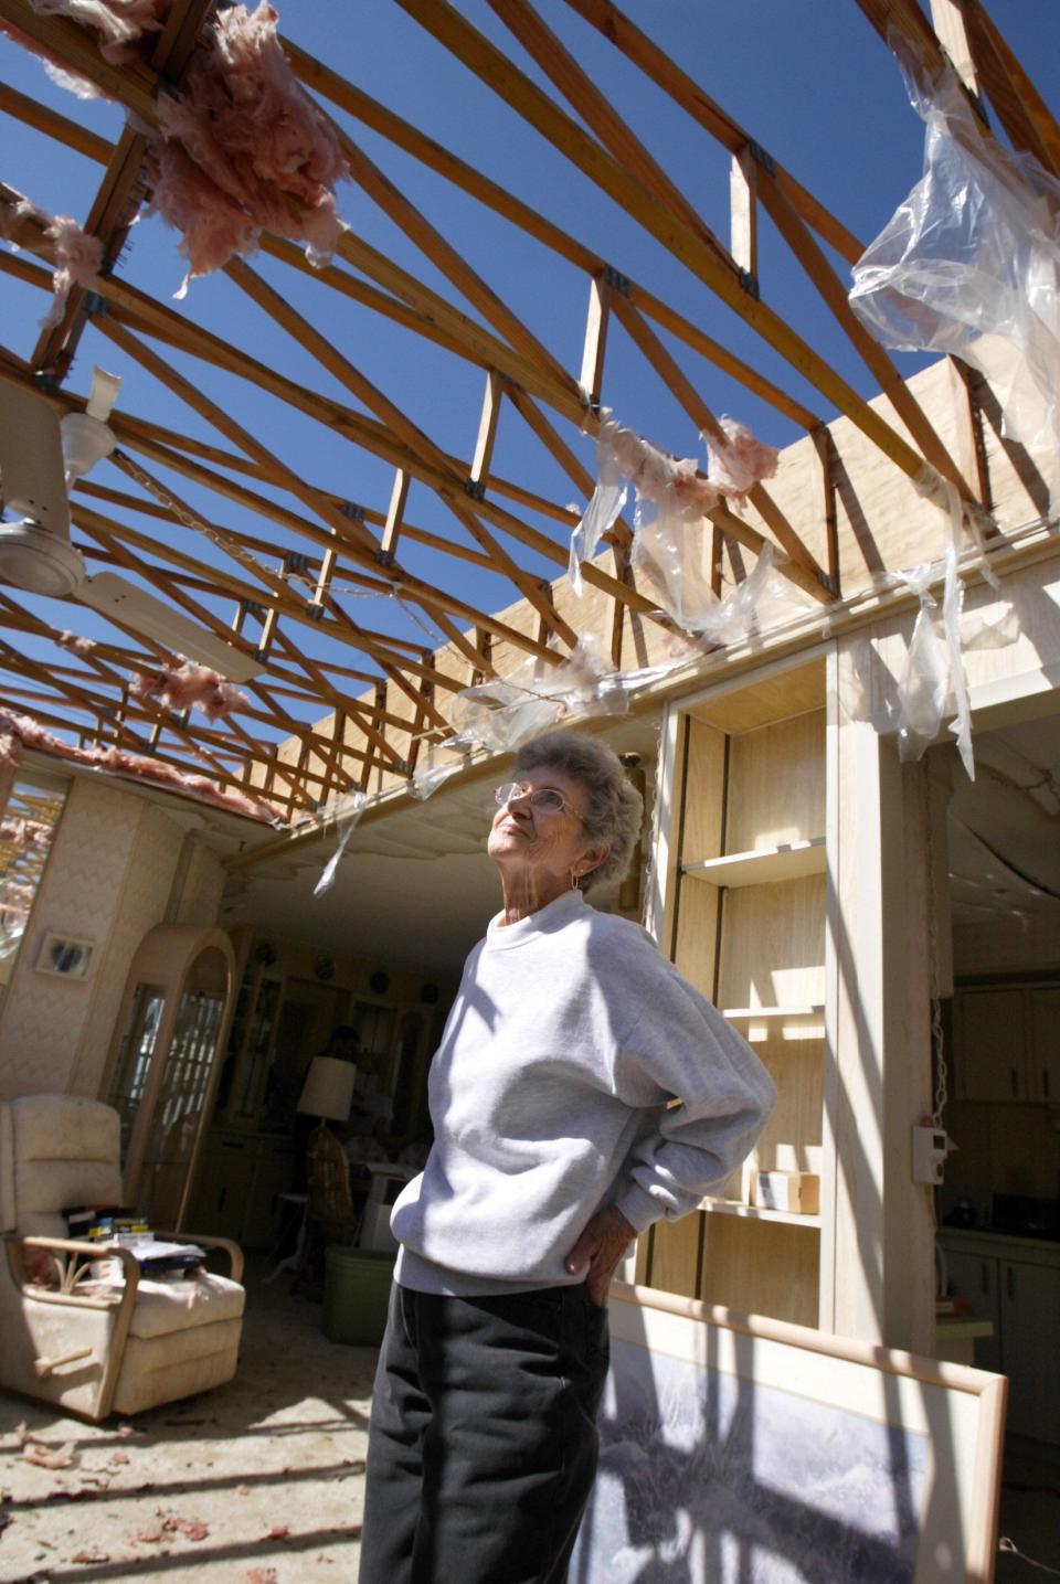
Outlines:
[[184, 236], [189, 276], [249, 253], [263, 230], [334, 247], [342, 222], [334, 184], [345, 174], [339, 141], [295, 81], [279, 16], [220, 11], [203, 35], [179, 95], [163, 93], [163, 143], [152, 149], [154, 206]]

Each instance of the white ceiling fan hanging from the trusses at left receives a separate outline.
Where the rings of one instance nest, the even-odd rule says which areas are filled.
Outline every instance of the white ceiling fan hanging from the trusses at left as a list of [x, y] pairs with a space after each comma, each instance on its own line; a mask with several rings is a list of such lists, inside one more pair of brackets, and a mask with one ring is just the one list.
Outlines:
[[89, 577], [70, 542], [67, 491], [114, 450], [106, 420], [120, 383], [95, 369], [86, 410], [60, 421], [36, 391], [0, 380], [0, 504], [21, 518], [0, 521], [0, 583], [52, 599], [73, 597], [231, 681], [250, 681], [261, 668], [252, 654], [112, 572]]

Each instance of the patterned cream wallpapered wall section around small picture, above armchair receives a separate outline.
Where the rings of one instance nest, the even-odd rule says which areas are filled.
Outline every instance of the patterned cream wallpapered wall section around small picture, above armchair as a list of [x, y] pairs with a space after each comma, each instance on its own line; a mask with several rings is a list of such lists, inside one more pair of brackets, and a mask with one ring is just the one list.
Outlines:
[[[97, 1093], [132, 954], [165, 917], [182, 840], [146, 798], [73, 781], [0, 1015], [0, 1098]], [[95, 942], [86, 982], [36, 971], [49, 931]]]

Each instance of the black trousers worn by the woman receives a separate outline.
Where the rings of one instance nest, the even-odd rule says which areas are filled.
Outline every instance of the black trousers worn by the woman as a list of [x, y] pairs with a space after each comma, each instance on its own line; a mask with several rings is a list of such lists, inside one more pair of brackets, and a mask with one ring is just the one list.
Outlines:
[[562, 1584], [597, 1457], [607, 1310], [585, 1285], [395, 1286], [358, 1584]]

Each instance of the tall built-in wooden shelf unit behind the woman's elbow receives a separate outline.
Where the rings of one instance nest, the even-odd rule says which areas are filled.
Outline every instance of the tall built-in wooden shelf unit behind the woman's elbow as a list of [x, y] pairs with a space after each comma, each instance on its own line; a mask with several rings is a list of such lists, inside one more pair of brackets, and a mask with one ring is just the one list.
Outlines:
[[822, 1172], [824, 702], [821, 662], [761, 697], [689, 703], [675, 721], [681, 792], [662, 833], [661, 936], [768, 1068], [778, 1104], [753, 1158], [699, 1215], [653, 1228], [637, 1272], [665, 1291], [808, 1326], [819, 1316], [822, 1218], [751, 1205], [749, 1175]]

